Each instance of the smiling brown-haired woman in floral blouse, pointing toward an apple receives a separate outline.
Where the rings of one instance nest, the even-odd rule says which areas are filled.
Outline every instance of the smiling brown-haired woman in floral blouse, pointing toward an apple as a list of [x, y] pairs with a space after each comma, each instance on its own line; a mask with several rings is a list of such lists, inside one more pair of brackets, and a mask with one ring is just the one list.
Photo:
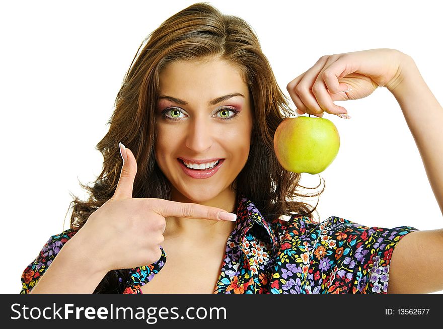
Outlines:
[[[71, 228], [25, 269], [21, 293], [443, 289], [441, 230], [319, 223], [316, 207], [294, 201], [301, 175], [273, 150], [288, 100], [245, 21], [195, 4], [143, 44], [97, 145], [103, 172], [84, 186], [90, 199], [72, 202]], [[287, 90], [299, 114], [321, 117], [345, 115], [333, 101], [378, 87], [399, 102], [443, 209], [443, 110], [412, 58], [394, 49], [323, 56]]]

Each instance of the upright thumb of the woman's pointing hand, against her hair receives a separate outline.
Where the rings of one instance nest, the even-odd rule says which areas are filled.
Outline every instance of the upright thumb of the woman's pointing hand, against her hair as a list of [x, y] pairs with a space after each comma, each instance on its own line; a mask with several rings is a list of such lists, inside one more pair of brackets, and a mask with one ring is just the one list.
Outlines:
[[126, 148], [122, 143], [119, 143], [119, 148], [123, 166], [113, 198], [132, 198], [135, 174], [137, 174], [137, 161], [129, 148]]

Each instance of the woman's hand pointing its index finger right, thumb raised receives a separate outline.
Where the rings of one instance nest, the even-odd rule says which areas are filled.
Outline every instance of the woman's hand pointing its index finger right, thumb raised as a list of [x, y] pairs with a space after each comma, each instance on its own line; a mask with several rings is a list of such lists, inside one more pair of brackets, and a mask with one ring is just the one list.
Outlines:
[[[84, 256], [98, 270], [110, 271], [149, 265], [160, 259], [165, 217], [221, 220], [226, 210], [194, 203], [156, 198], [132, 198], [137, 163], [130, 149], [120, 146], [124, 158], [120, 179], [112, 198], [92, 213], [76, 233]], [[232, 214], [235, 220], [235, 214]], [[78, 236], [80, 235], [80, 236]]]

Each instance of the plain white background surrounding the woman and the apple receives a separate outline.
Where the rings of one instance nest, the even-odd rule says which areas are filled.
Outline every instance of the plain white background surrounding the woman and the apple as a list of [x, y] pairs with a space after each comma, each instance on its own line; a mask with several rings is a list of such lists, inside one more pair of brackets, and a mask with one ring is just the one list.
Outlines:
[[[69, 192], [85, 198], [79, 181], [93, 182], [100, 174], [103, 157], [95, 146], [107, 131], [139, 44], [193, 3], [2, 5], [2, 292], [20, 291], [25, 267], [51, 235], [68, 228]], [[437, 2], [210, 3], [251, 24], [286, 95], [287, 83], [322, 55], [395, 48], [412, 56], [435, 97], [443, 100], [443, 24]], [[395, 98], [379, 88], [362, 100], [337, 104], [352, 118], [324, 115], [336, 124], [341, 146], [320, 174], [326, 181], [318, 206], [321, 219], [339, 216], [366, 226], [441, 228], [441, 212]], [[303, 175], [305, 185], [319, 183], [317, 175]]]

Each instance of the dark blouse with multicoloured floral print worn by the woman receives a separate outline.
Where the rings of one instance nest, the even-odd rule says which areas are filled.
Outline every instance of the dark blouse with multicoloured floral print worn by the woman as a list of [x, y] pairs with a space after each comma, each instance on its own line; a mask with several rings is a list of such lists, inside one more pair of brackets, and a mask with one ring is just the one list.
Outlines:
[[[416, 230], [366, 227], [335, 216], [318, 223], [288, 214], [269, 222], [239, 194], [236, 226], [227, 240], [214, 293], [386, 293], [392, 252], [403, 236]], [[23, 272], [20, 293], [30, 292], [77, 231], [68, 229], [49, 238]], [[157, 262], [130, 269], [123, 293], [142, 293], [141, 286], [166, 262], [162, 248]]]

